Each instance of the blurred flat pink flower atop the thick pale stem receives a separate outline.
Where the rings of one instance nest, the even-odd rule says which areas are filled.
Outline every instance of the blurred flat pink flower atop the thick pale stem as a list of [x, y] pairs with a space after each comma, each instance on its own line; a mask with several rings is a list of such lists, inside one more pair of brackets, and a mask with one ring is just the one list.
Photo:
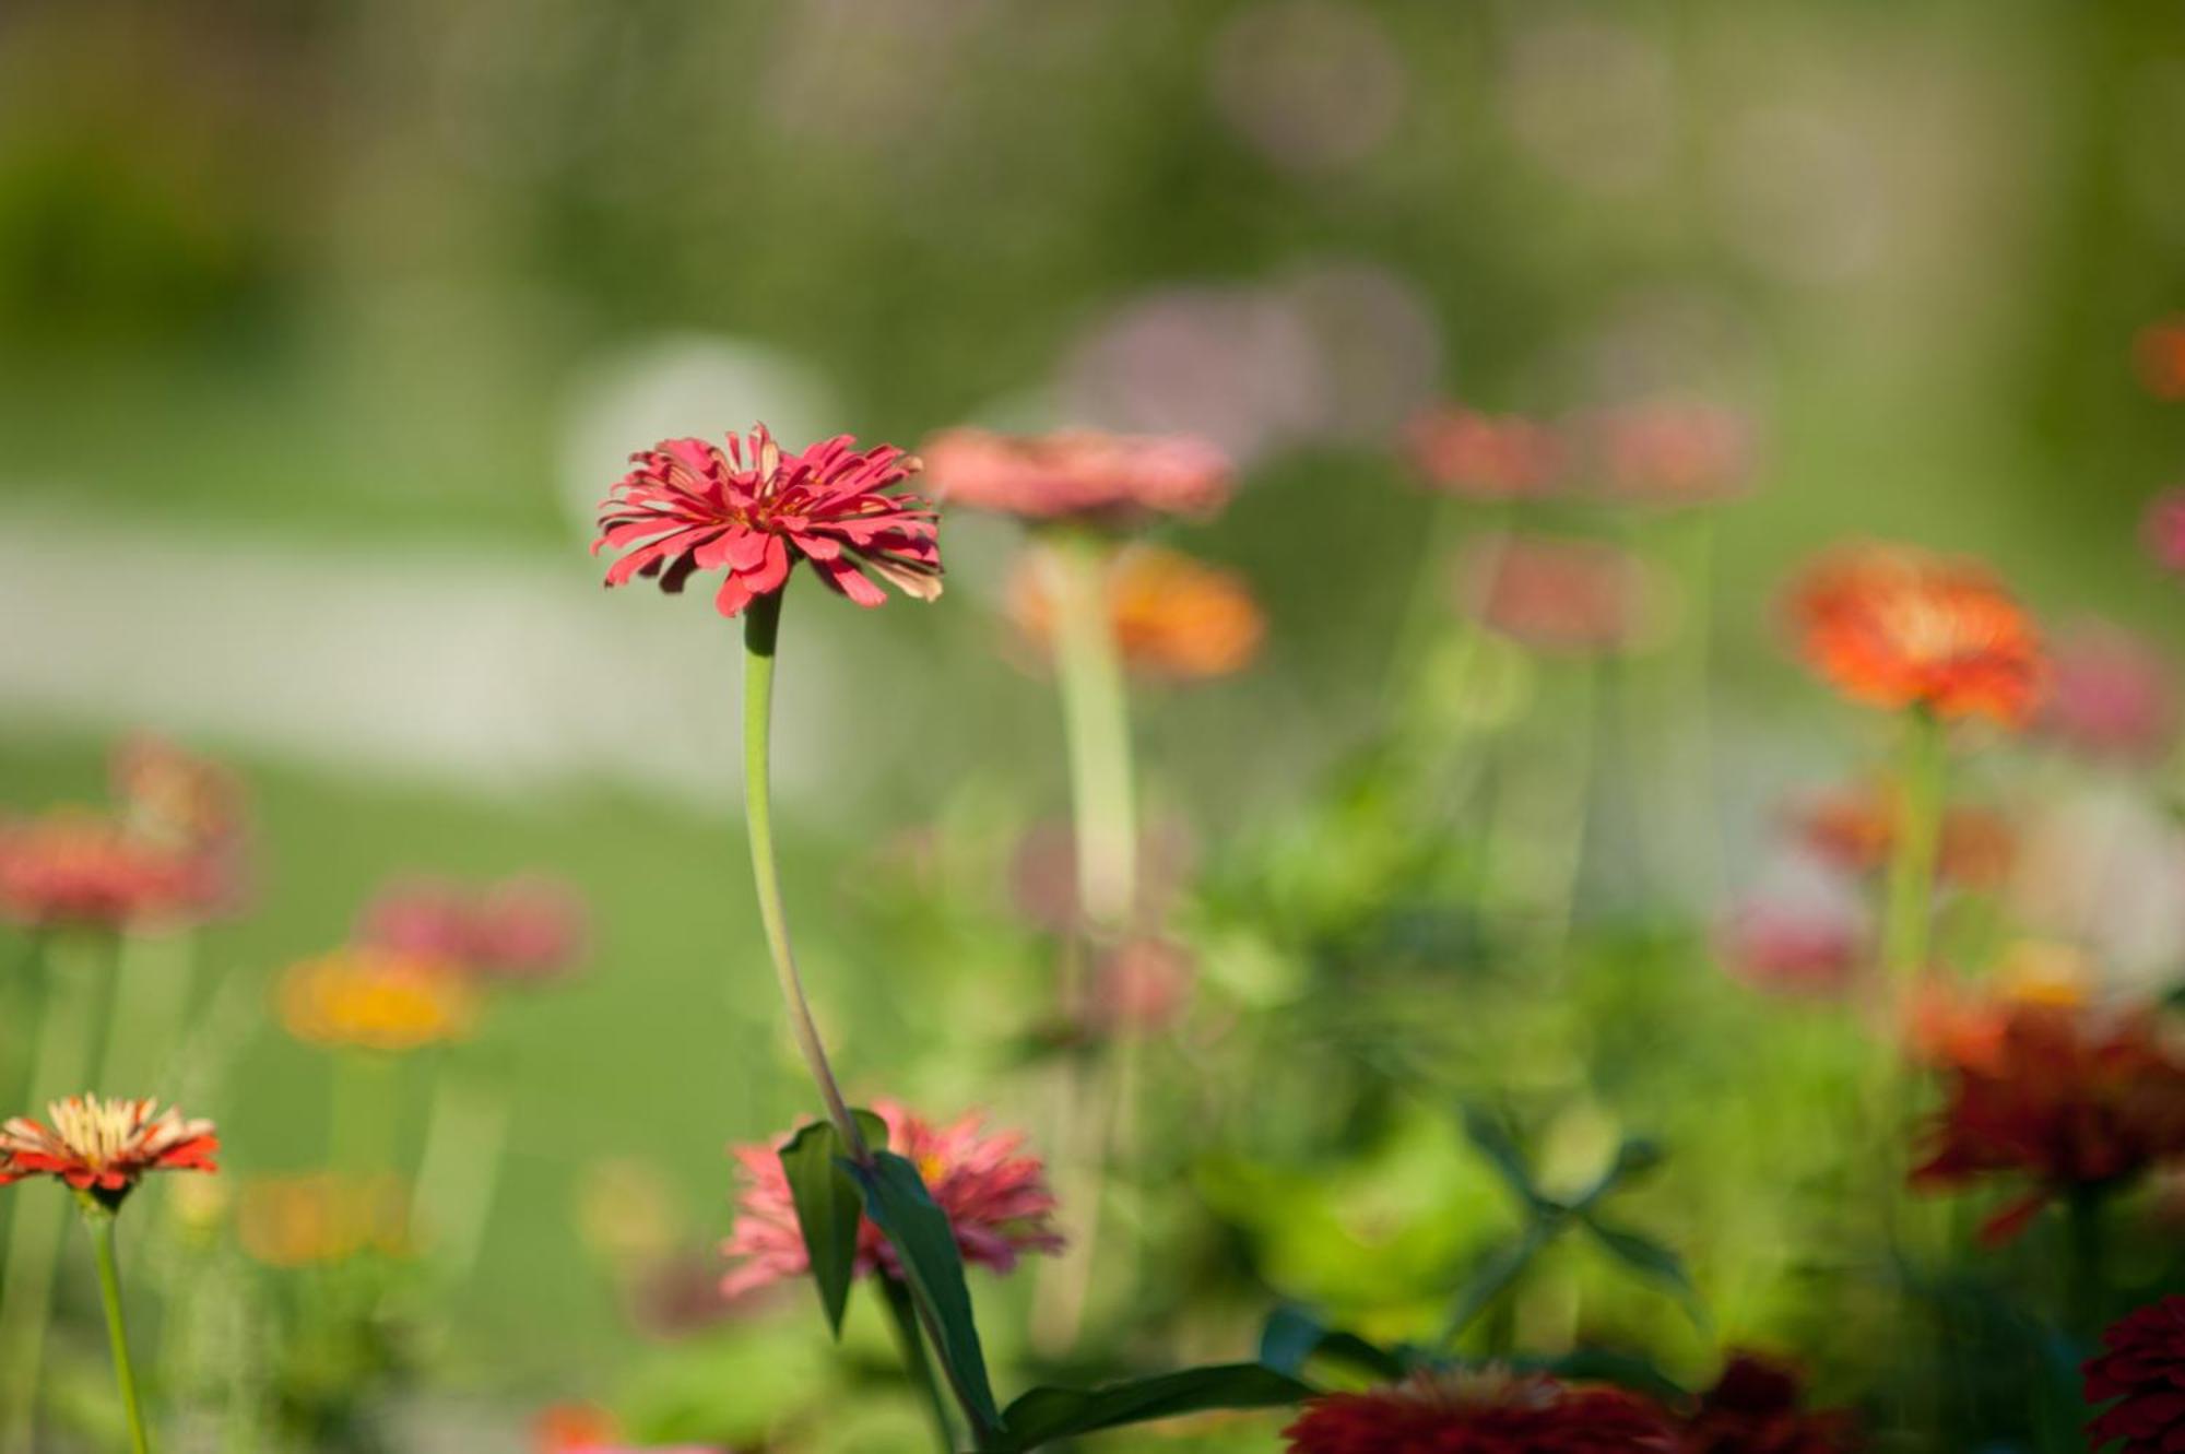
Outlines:
[[944, 504], [1027, 520], [1204, 517], [1228, 504], [1232, 489], [1228, 456], [1189, 434], [959, 428], [935, 434], [924, 454]]

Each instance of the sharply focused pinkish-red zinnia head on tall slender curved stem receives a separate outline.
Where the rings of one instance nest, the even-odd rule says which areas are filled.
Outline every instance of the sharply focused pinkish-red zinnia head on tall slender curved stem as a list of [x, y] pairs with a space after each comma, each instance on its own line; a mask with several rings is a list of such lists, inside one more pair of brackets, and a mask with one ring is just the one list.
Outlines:
[[865, 570], [896, 589], [933, 600], [942, 594], [942, 555], [933, 509], [920, 496], [887, 493], [918, 472], [894, 445], [857, 450], [837, 434], [784, 452], [767, 426], [728, 450], [704, 439], [666, 439], [631, 454], [599, 506], [592, 552], [627, 550], [607, 568], [607, 585], [634, 576], [680, 592], [697, 570], [725, 570], [714, 596], [721, 616], [736, 616], [758, 596], [789, 583], [798, 561], [861, 607], [887, 594]]

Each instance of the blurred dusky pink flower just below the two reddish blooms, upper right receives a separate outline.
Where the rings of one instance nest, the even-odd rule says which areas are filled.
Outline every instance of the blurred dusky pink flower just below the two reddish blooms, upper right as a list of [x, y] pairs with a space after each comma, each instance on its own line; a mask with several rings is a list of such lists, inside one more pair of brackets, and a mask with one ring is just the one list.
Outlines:
[[1457, 559], [1457, 592], [1479, 624], [1558, 655], [1626, 651], [1654, 624], [1645, 565], [1593, 539], [1475, 539]]

